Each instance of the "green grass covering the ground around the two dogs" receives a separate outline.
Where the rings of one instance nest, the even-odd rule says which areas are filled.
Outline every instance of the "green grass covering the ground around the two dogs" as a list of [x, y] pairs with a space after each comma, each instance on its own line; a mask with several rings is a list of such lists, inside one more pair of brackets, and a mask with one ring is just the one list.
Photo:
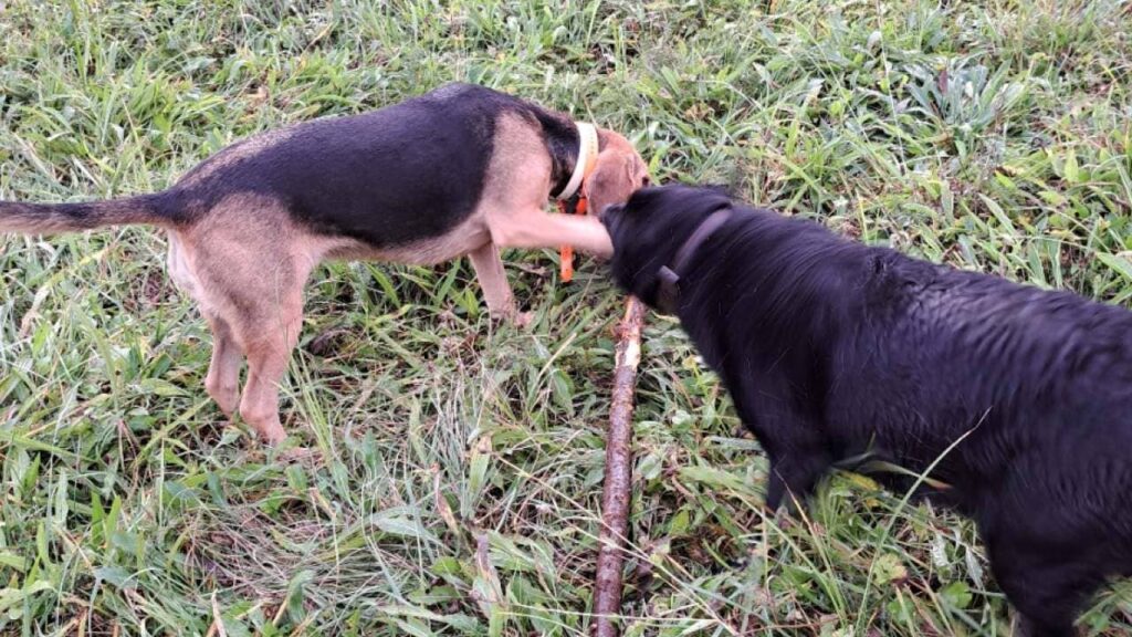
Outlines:
[[[5, 7], [5, 5], [7, 5]], [[1132, 15], [1113, 0], [0, 2], [0, 198], [161, 188], [245, 135], [463, 79], [864, 241], [1126, 305]], [[144, 228], [0, 237], [0, 634], [585, 635], [620, 298], [508, 255], [316, 271], [276, 461], [204, 391]], [[765, 462], [651, 316], [627, 635], [1009, 635], [974, 527]], [[479, 553], [479, 559], [478, 559]], [[1106, 593], [1090, 635], [1126, 635]]]

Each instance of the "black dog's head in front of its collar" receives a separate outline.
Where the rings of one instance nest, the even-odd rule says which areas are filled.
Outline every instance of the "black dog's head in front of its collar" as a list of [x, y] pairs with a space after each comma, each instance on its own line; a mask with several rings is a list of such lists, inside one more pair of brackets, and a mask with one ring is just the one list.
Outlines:
[[658, 307], [659, 272], [711, 213], [731, 203], [718, 187], [642, 188], [625, 204], [604, 209], [601, 221], [614, 241], [614, 280], [650, 307]]

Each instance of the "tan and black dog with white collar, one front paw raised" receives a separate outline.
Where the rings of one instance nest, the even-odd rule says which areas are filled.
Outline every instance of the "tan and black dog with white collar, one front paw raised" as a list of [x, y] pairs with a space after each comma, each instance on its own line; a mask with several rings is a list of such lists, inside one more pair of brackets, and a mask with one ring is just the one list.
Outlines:
[[278, 382], [299, 339], [303, 284], [320, 261], [432, 264], [466, 254], [489, 312], [514, 317], [499, 248], [612, 253], [595, 216], [548, 214], [548, 197], [584, 196], [597, 212], [648, 180], [625, 137], [455, 84], [377, 111], [256, 135], [161, 193], [0, 202], [0, 231], [164, 228], [170, 277], [212, 328], [209, 396], [228, 415], [239, 408], [276, 443], [285, 438]]

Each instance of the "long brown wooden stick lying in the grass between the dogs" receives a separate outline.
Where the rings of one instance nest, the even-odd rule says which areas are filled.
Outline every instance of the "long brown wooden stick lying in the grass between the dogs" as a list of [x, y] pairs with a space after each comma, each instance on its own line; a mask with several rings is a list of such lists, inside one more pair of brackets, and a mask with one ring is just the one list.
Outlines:
[[618, 326], [617, 357], [614, 367], [614, 396], [606, 436], [606, 479], [601, 494], [598, 580], [593, 591], [597, 615], [595, 637], [617, 637], [621, 612], [621, 568], [628, 534], [629, 501], [633, 482], [633, 391], [641, 363], [641, 326], [644, 305], [635, 297], [625, 304], [625, 317]]

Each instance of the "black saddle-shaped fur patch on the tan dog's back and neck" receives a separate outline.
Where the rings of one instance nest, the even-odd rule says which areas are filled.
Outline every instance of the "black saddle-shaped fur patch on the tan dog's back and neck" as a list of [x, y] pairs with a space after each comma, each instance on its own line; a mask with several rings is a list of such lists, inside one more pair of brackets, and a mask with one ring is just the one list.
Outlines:
[[[577, 129], [568, 119], [482, 86], [452, 84], [352, 117], [291, 127], [283, 141], [204, 178], [205, 162], [166, 193], [175, 216], [237, 193], [288, 202], [316, 231], [374, 247], [441, 236], [480, 201], [496, 122], [512, 111], [541, 129], [552, 185], [569, 179]], [[239, 152], [239, 144], [217, 154]], [[565, 177], [561, 177], [565, 175]]]

